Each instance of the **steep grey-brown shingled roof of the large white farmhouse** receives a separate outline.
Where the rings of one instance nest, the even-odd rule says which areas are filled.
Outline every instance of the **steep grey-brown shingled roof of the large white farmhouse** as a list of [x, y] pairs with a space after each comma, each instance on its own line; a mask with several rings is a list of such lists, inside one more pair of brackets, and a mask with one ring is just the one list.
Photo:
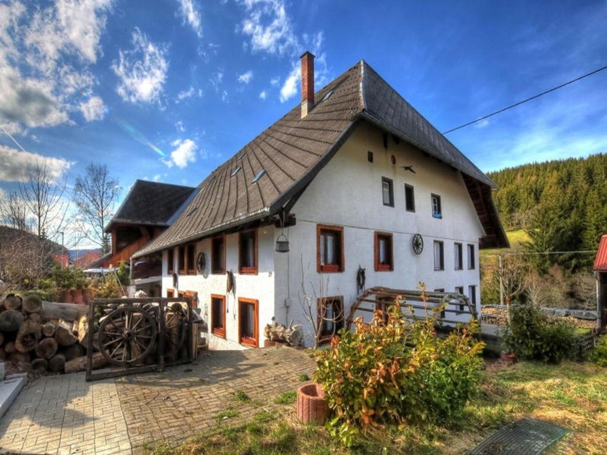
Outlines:
[[[181, 217], [135, 257], [276, 214], [316, 176], [361, 120], [399, 136], [480, 185], [495, 186], [364, 61], [316, 92], [314, 99], [314, 109], [305, 118], [298, 104], [215, 169]], [[265, 172], [254, 183], [261, 170]], [[495, 211], [488, 194], [483, 207]], [[507, 246], [501, 225], [492, 232], [497, 237], [484, 246]]]

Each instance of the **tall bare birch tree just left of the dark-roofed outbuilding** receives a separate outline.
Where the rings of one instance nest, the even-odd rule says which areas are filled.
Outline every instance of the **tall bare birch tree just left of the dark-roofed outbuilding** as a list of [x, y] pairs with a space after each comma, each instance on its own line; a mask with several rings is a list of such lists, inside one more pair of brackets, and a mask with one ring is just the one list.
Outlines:
[[89, 241], [109, 251], [109, 237], [104, 227], [114, 215], [114, 203], [120, 192], [118, 180], [111, 177], [105, 164], [89, 164], [86, 175], [76, 178], [73, 201], [78, 213], [76, 229]]

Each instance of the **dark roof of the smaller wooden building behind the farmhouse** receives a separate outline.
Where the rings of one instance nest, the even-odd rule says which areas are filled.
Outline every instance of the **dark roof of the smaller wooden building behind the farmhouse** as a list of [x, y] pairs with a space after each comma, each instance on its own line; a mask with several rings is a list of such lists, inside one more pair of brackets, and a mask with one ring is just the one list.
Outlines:
[[136, 180], [105, 231], [109, 232], [115, 223], [168, 226], [169, 219], [194, 190], [191, 186]]

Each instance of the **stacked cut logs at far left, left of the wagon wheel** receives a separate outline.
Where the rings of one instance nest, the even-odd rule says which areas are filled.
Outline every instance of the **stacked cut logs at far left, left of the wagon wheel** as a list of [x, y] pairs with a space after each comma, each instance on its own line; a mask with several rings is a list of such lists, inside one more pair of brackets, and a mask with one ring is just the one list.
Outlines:
[[45, 314], [42, 300], [36, 295], [0, 296], [0, 360], [23, 371], [83, 371], [87, 317], [76, 314], [69, 320], [56, 315]]

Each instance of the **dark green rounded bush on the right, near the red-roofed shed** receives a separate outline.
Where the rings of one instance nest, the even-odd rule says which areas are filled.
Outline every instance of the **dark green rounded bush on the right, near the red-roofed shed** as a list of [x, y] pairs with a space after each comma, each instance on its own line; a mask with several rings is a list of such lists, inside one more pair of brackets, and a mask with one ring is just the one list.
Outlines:
[[504, 342], [521, 359], [548, 363], [573, 359], [579, 347], [571, 322], [549, 317], [531, 304], [510, 308], [510, 325], [504, 333]]

